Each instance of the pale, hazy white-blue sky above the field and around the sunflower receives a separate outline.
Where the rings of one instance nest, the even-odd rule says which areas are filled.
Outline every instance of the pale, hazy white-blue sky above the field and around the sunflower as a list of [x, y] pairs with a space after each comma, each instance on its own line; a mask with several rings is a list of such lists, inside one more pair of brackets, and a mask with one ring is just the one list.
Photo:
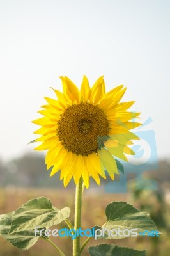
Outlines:
[[170, 1], [0, 0], [0, 159], [33, 152], [31, 120], [61, 89], [104, 75], [107, 91], [124, 84], [159, 158], [169, 157]]

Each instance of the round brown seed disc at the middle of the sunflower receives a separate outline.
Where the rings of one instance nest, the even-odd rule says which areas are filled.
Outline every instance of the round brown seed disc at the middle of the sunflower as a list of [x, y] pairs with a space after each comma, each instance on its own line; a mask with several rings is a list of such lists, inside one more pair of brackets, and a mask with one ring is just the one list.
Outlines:
[[70, 106], [58, 124], [58, 134], [63, 146], [82, 156], [97, 152], [107, 140], [108, 133], [109, 123], [104, 112], [89, 103]]

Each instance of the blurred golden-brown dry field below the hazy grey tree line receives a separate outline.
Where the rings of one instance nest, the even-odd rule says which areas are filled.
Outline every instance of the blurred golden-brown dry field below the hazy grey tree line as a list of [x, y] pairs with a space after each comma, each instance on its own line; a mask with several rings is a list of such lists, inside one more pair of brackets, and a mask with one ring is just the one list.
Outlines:
[[[74, 202], [74, 191], [72, 189], [23, 189], [23, 188], [16, 188], [16, 187], [7, 187], [0, 189], [0, 213], [3, 214], [5, 212], [10, 212], [22, 204], [24, 204], [27, 200], [31, 198], [36, 198], [38, 196], [46, 196], [52, 201], [52, 204], [58, 208], [62, 207], [70, 207], [71, 214], [70, 220], [73, 221], [73, 202]], [[146, 196], [147, 197], [147, 196]], [[102, 225], [105, 221], [105, 206], [110, 202], [117, 200], [117, 201], [124, 201], [128, 202], [129, 204], [133, 204], [135, 207], [139, 209], [141, 207], [140, 200], [134, 200], [135, 196], [132, 193], [128, 194], [108, 194], [104, 193], [103, 191], [93, 191], [88, 190], [84, 191], [83, 196], [83, 205], [82, 205], [82, 229], [91, 228], [94, 225]], [[152, 197], [154, 198], [154, 196]], [[144, 202], [144, 197], [143, 200]], [[153, 200], [152, 200], [153, 201]], [[155, 207], [157, 205], [158, 210], [158, 202], [154, 202]], [[127, 239], [120, 239], [120, 240], [112, 240], [109, 243], [116, 243], [120, 244], [121, 246], [128, 246], [131, 248], [135, 248], [137, 250], [148, 250], [148, 256], [169, 256], [170, 252], [170, 236], [169, 236], [169, 216], [168, 211], [170, 207], [169, 204], [166, 203], [166, 207], [164, 208], [164, 215], [166, 216], [166, 226], [162, 225], [161, 231], [164, 233], [161, 237], [131, 237]], [[155, 221], [156, 222], [156, 221]], [[156, 223], [157, 225], [157, 223]], [[160, 223], [159, 223], [159, 226]], [[59, 227], [54, 228], [63, 228], [64, 223]], [[60, 248], [66, 255], [72, 255], [72, 240], [70, 237], [54, 237], [53, 238], [56, 244], [59, 244]], [[89, 241], [89, 245], [98, 244], [99, 241], [95, 241], [91, 239]], [[100, 243], [106, 243], [105, 240], [100, 240]], [[108, 241], [107, 241], [108, 243]], [[89, 255], [87, 248], [84, 250], [82, 255], [86, 256]], [[36, 243], [32, 248], [27, 251], [21, 251], [10, 243], [5, 241], [2, 237], [0, 237], [0, 255], [1, 256], [35, 256], [35, 255], [56, 255], [56, 252], [50, 244], [45, 243], [45, 241], [41, 241], [39, 239], [38, 243]]]

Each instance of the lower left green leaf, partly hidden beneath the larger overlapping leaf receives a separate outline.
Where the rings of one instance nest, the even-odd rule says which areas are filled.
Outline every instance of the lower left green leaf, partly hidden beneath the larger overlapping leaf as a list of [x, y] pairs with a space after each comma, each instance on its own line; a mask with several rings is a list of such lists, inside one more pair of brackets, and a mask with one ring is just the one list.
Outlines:
[[27, 250], [38, 241], [34, 231], [15, 232], [8, 234], [12, 223], [12, 215], [14, 212], [0, 215], [0, 235], [9, 241], [13, 246], [21, 250]]

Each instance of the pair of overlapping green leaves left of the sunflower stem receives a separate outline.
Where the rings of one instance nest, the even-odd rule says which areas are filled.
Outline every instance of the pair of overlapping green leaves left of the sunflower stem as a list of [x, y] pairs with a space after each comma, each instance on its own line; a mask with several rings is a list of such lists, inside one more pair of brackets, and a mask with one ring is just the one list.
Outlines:
[[[17, 211], [0, 215], [0, 235], [13, 246], [27, 250], [38, 241], [40, 230], [61, 223], [69, 215], [68, 207], [59, 210], [52, 206], [48, 198], [35, 198], [22, 205]], [[36, 227], [39, 228], [35, 236]], [[48, 239], [44, 231], [41, 232], [41, 236], [43, 239]]]

